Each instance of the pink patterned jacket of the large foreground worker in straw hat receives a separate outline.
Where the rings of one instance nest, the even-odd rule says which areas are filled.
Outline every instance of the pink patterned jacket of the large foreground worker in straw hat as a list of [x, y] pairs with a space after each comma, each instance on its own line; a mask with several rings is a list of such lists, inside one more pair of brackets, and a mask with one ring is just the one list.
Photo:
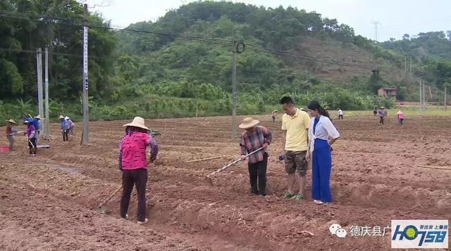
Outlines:
[[133, 132], [121, 142], [122, 169], [147, 169], [146, 148], [150, 136], [142, 132]]

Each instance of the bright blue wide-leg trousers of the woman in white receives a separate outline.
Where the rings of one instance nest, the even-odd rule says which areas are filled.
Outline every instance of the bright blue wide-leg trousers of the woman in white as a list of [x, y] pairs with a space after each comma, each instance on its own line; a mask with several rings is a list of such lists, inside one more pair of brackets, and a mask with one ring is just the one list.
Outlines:
[[322, 202], [332, 202], [330, 172], [332, 157], [328, 141], [316, 139], [312, 157], [311, 197]]

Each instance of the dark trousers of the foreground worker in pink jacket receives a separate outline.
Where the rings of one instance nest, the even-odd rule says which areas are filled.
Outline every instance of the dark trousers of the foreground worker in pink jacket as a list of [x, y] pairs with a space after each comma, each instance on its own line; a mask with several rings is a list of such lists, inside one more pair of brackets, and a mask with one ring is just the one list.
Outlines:
[[137, 220], [144, 221], [146, 219], [146, 184], [147, 169], [134, 169], [122, 171], [122, 198], [121, 198], [121, 217], [125, 218], [128, 212], [128, 204], [130, 204], [130, 194], [133, 186], [136, 186], [138, 193], [138, 212]]

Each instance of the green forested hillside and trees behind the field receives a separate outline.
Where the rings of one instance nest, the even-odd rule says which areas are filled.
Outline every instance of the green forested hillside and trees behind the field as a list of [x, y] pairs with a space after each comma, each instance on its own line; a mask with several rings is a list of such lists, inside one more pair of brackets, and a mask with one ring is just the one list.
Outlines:
[[[39, 46], [49, 47], [51, 115], [80, 116], [82, 11], [77, 1], [0, 0], [2, 116], [36, 113]], [[451, 77], [450, 33], [378, 44], [338, 20], [291, 7], [204, 1], [122, 30], [91, 13], [88, 26], [93, 119], [228, 114], [234, 36], [245, 45], [237, 54], [242, 114], [267, 112], [285, 94], [299, 105], [318, 99], [346, 110], [390, 107], [376, 90], [397, 86], [399, 100], [416, 100], [418, 77], [440, 101]], [[412, 75], [404, 72], [411, 56]]]

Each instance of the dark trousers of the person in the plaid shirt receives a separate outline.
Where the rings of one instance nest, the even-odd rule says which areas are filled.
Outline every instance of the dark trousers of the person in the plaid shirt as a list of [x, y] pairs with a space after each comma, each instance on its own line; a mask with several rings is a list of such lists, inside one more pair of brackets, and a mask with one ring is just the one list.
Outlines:
[[[251, 181], [251, 193], [266, 195], [266, 167], [268, 165], [268, 153], [264, 153], [263, 160], [253, 164], [247, 164]], [[258, 178], [258, 189], [257, 189]]]

